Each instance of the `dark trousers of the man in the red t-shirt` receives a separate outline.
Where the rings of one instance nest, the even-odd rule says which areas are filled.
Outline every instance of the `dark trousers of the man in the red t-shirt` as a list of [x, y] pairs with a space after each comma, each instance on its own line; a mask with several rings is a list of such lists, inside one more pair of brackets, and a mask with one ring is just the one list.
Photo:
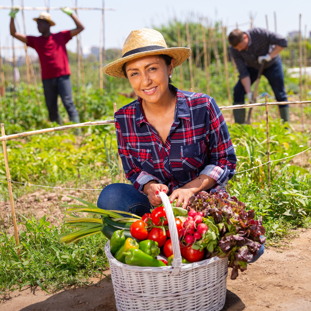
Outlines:
[[62, 76], [53, 79], [44, 79], [43, 89], [46, 106], [49, 110], [50, 120], [57, 121], [59, 119], [57, 97], [60, 95], [64, 107], [67, 110], [70, 120], [78, 116], [78, 111], [72, 100], [70, 76]]

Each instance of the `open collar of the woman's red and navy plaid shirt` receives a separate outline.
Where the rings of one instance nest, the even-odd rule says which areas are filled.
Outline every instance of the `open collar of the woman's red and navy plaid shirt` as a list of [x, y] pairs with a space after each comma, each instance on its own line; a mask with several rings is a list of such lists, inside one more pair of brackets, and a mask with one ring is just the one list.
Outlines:
[[[174, 123], [177, 126], [179, 124], [179, 119], [190, 120], [190, 110], [184, 93], [173, 85], [170, 85], [170, 87], [173, 91], [176, 92], [177, 109], [175, 109]], [[136, 100], [135, 121], [139, 127], [142, 126], [142, 123], [149, 124], [145, 116], [142, 114], [141, 105], [142, 105], [142, 98], [138, 97]]]

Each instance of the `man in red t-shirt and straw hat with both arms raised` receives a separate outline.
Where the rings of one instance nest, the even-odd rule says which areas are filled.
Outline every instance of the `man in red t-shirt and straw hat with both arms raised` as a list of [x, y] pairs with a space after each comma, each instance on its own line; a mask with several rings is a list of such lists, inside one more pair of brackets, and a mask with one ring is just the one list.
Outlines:
[[70, 69], [67, 58], [66, 43], [75, 35], [80, 33], [84, 26], [78, 20], [77, 16], [72, 14], [70, 8], [62, 8], [62, 11], [72, 17], [77, 28], [65, 30], [56, 34], [50, 32], [50, 27], [55, 23], [47, 12], [41, 12], [34, 21], [38, 24], [38, 30], [42, 34], [39, 37], [27, 36], [16, 32], [14, 17], [19, 8], [14, 7], [10, 12], [10, 32], [11, 35], [25, 42], [28, 46], [34, 48], [41, 63], [42, 83], [46, 106], [49, 110], [50, 120], [56, 121], [62, 125], [63, 121], [58, 114], [57, 97], [60, 95], [64, 107], [67, 110], [70, 121], [80, 123], [78, 111], [72, 100], [72, 90], [70, 82]]

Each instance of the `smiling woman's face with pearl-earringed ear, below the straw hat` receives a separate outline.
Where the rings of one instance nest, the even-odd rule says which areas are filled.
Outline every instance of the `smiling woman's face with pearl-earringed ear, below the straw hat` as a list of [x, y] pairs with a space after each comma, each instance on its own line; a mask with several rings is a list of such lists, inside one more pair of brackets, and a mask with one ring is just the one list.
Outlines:
[[169, 92], [169, 74], [173, 72], [174, 59], [169, 66], [158, 55], [133, 59], [125, 64], [128, 80], [135, 93], [147, 103], [160, 102]]

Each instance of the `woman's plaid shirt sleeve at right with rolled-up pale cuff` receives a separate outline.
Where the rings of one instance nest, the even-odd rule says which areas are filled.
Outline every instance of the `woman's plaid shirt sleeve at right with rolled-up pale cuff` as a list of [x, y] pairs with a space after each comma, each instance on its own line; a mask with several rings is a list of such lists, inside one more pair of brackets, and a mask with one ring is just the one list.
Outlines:
[[207, 107], [207, 156], [209, 164], [200, 174], [215, 179], [218, 185], [225, 185], [235, 173], [237, 159], [225, 119], [213, 98]]

